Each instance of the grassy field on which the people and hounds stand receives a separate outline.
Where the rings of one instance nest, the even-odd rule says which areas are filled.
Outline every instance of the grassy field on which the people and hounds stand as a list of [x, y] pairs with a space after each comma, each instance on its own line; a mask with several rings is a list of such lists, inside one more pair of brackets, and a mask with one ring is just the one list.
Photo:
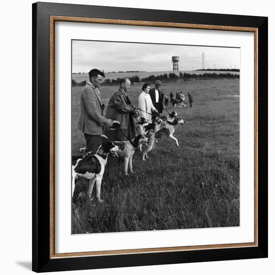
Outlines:
[[[105, 105], [114, 89], [101, 87]], [[141, 84], [131, 85], [134, 104], [140, 89]], [[185, 120], [174, 133], [180, 147], [162, 137], [149, 159], [142, 161], [136, 151], [129, 176], [109, 157], [101, 185], [104, 202], [77, 201], [72, 233], [239, 225], [239, 79], [175, 81], [161, 89], [166, 95], [171, 90], [193, 95], [192, 108], [176, 108]], [[72, 88], [72, 155], [85, 146], [76, 129], [80, 90]], [[76, 191], [86, 183], [76, 181]]]

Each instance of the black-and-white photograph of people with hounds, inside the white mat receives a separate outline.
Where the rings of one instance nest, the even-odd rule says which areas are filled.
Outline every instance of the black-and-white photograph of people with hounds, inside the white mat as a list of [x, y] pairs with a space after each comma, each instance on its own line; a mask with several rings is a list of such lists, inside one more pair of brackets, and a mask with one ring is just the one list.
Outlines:
[[240, 48], [71, 40], [71, 233], [239, 226]]

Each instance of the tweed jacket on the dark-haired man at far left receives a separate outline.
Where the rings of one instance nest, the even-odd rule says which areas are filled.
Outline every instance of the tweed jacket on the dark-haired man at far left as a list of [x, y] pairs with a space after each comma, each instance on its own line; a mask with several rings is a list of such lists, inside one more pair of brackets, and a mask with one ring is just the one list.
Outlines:
[[103, 108], [96, 88], [86, 84], [80, 93], [80, 115], [77, 126], [82, 132], [100, 135], [103, 132]]

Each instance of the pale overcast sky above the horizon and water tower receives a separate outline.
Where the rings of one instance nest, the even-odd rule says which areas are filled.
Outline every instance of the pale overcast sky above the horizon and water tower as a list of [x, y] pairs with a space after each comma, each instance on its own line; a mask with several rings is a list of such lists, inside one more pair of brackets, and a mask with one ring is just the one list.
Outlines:
[[72, 72], [172, 70], [173, 55], [179, 70], [200, 69], [202, 52], [205, 68], [239, 68], [239, 48], [73, 40]]

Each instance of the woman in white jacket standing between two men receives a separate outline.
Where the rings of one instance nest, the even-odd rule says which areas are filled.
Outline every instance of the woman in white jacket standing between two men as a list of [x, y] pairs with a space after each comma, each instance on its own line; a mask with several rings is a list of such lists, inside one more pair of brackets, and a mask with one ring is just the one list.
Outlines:
[[141, 117], [144, 117], [148, 123], [152, 123], [152, 118], [149, 113], [157, 113], [157, 109], [153, 106], [151, 97], [149, 95], [150, 84], [144, 83], [141, 89], [142, 92], [138, 96], [138, 108], [143, 111], [140, 111], [139, 114]]

